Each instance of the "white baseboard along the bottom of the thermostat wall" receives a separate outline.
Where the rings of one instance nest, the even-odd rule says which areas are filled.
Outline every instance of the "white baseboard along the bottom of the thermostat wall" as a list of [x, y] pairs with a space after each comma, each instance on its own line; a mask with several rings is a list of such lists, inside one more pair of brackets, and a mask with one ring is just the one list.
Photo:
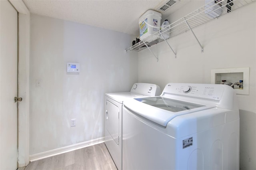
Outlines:
[[55, 156], [55, 155], [59, 155], [59, 154], [63, 154], [63, 153], [70, 152], [70, 151], [73, 151], [73, 150], [85, 148], [85, 147], [92, 146], [92, 145], [95, 145], [95, 144], [100, 144], [100, 143], [103, 143], [104, 141], [105, 141], [105, 138], [102, 137], [102, 138], [93, 139], [93, 140], [86, 141], [86, 142], [81, 142], [81, 143], [78, 143], [78, 144], [73, 144], [73, 145], [70, 145], [70, 146], [65, 146], [65, 147], [58, 148], [58, 149], [49, 150], [49, 151], [46, 151], [46, 152], [41, 152], [41, 153], [38, 153], [38, 154], [33, 154], [33, 155], [29, 156], [30, 162], [40, 160], [40, 159], [44, 159], [44, 158], [48, 158], [48, 157]]

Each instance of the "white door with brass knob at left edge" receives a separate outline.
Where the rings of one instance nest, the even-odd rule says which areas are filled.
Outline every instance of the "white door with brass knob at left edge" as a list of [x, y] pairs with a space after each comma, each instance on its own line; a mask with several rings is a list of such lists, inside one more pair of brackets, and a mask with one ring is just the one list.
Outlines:
[[18, 13], [0, 0], [0, 170], [17, 169]]

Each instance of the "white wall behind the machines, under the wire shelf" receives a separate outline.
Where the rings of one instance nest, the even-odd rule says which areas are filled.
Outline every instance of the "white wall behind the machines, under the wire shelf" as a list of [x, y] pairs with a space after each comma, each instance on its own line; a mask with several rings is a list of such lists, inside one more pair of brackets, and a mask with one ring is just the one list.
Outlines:
[[[188, 14], [187, 6], [168, 18], [171, 22]], [[200, 5], [202, 6], [202, 4]], [[198, 7], [200, 7], [198, 6]], [[195, 10], [195, 9], [193, 9]], [[191, 11], [190, 11], [191, 12]], [[171, 23], [170, 22], [170, 23]], [[138, 53], [138, 80], [160, 85], [167, 83], [211, 83], [211, 69], [250, 67], [249, 95], [237, 95], [240, 108], [240, 169], [256, 169], [256, 4], [212, 20], [194, 29], [204, 46], [200, 46], [191, 32], [168, 40], [177, 58], [165, 42], [151, 47], [158, 56], [147, 49]], [[239, 80], [238, 80], [239, 81]]]

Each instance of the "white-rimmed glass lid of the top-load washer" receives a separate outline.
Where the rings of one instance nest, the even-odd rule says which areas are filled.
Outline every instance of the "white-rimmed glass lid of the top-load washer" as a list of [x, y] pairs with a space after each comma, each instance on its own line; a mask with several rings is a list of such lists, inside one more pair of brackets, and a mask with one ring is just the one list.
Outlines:
[[133, 112], [166, 127], [174, 117], [214, 108], [165, 97], [146, 97], [124, 101], [125, 107]]

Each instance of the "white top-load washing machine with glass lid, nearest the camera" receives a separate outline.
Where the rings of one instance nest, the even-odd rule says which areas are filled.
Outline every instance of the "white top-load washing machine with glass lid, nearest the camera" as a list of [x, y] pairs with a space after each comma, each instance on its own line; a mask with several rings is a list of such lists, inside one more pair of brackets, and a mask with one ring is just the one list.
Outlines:
[[169, 83], [123, 105], [123, 170], [238, 170], [239, 111], [228, 85]]

